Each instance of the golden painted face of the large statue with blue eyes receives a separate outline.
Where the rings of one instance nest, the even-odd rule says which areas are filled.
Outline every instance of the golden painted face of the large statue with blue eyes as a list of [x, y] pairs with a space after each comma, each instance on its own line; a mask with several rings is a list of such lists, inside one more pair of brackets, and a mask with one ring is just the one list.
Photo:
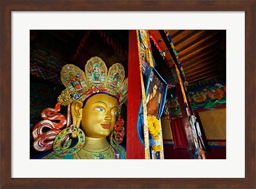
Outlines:
[[117, 100], [106, 94], [92, 96], [83, 108], [82, 128], [92, 138], [108, 136], [116, 122]]

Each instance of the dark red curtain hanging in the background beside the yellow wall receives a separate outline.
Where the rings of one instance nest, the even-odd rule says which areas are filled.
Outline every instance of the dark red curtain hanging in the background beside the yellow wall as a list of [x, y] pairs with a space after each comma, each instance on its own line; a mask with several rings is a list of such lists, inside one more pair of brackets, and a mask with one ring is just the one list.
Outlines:
[[182, 118], [170, 119], [174, 149], [187, 149], [188, 139]]

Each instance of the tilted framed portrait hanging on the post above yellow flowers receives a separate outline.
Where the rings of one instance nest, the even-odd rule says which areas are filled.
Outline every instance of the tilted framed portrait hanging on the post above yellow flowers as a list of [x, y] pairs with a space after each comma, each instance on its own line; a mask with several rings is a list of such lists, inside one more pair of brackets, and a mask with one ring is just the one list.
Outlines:
[[153, 67], [149, 68], [145, 83], [148, 114], [159, 119], [163, 113], [167, 84]]

